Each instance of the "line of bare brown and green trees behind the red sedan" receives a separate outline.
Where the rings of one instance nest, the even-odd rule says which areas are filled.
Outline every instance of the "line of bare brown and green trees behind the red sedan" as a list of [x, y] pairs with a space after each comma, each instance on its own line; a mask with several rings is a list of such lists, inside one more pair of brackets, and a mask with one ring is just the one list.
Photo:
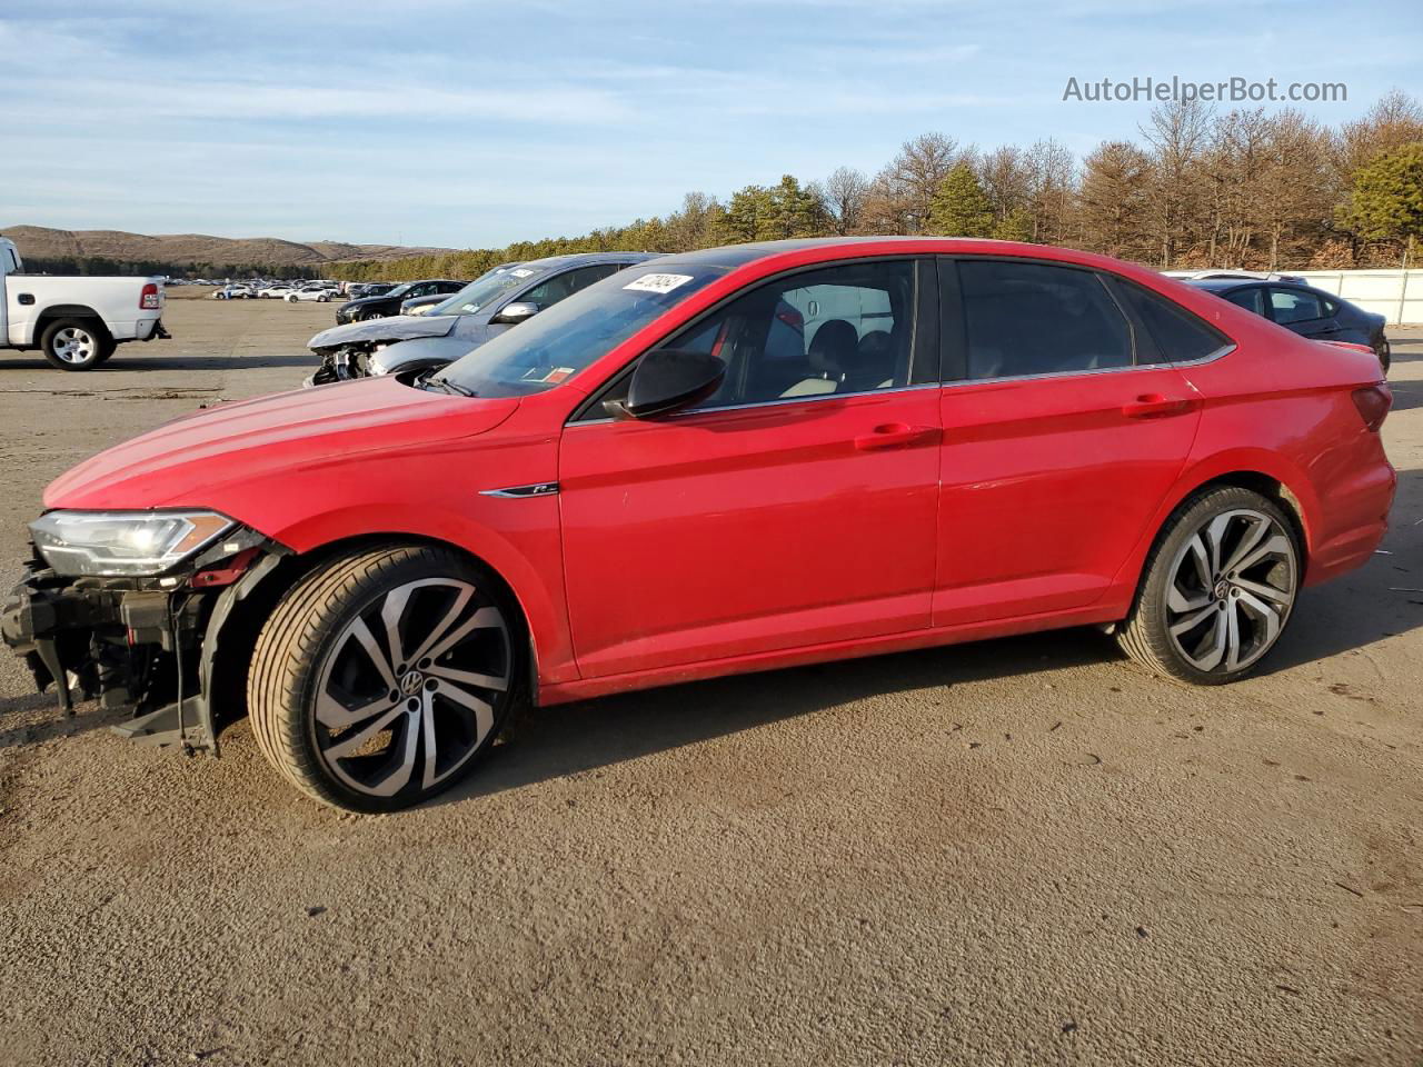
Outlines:
[[1067, 245], [1161, 269], [1397, 266], [1423, 235], [1423, 108], [1395, 91], [1326, 127], [1295, 110], [1168, 104], [1137, 139], [1104, 141], [1083, 159], [1052, 138], [980, 151], [922, 134], [874, 175], [784, 175], [724, 202], [692, 192], [667, 216], [578, 238], [324, 269], [350, 280], [474, 277], [569, 252], [852, 233]]

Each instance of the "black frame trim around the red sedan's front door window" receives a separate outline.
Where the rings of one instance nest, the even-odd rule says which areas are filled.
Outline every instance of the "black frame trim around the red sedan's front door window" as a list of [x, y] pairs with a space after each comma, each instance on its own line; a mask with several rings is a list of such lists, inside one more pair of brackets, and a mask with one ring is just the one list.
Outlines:
[[[750, 286], [737, 289], [734, 293], [717, 300], [710, 307], [703, 309], [699, 314], [682, 323], [667, 334], [659, 337], [653, 344], [639, 351], [626, 364], [609, 374], [601, 386], [593, 388], [588, 397], [578, 404], [573, 411], [564, 420], [565, 427], [572, 425], [599, 425], [603, 423], [615, 423], [618, 420], [602, 414], [602, 401], [606, 396], [618, 388], [628, 377], [632, 376], [638, 366], [638, 361], [646, 356], [653, 349], [657, 349], [667, 341], [669, 337], [675, 337], [683, 333], [696, 333], [697, 327], [702, 326], [707, 319], [721, 312], [734, 300], [756, 292], [767, 285], [780, 282], [787, 277], [794, 277], [795, 275], [813, 273], [817, 270], [827, 270], [838, 266], [852, 266], [857, 263], [884, 263], [884, 262], [906, 262], [914, 265], [914, 285], [915, 285], [915, 309], [914, 309], [914, 336], [909, 340], [909, 381], [904, 386], [896, 386], [891, 388], [871, 388], [862, 390], [859, 393], [821, 393], [818, 396], [810, 397], [777, 397], [776, 400], [757, 400], [748, 401], [746, 404], [724, 404], [721, 407], [699, 407], [687, 411], [677, 411], [670, 418], [684, 418], [692, 415], [709, 415], [720, 414], [721, 411], [744, 411], [750, 408], [784, 405], [784, 404], [814, 404], [824, 403], [827, 400], [847, 400], [850, 397], [885, 397], [896, 393], [908, 393], [921, 388], [939, 388], [942, 381], [916, 381], [919, 377], [935, 377], [935, 356], [938, 354], [938, 331], [941, 322], [939, 310], [939, 293], [935, 285], [935, 256], [924, 253], [898, 253], [898, 255], [884, 255], [884, 256], [854, 256], [847, 259], [830, 259], [821, 260], [818, 263], [807, 263], [797, 267], [790, 267], [788, 270], [780, 270], [774, 275], [767, 275], [766, 277], [757, 279]], [[596, 413], [596, 414], [595, 414]]]

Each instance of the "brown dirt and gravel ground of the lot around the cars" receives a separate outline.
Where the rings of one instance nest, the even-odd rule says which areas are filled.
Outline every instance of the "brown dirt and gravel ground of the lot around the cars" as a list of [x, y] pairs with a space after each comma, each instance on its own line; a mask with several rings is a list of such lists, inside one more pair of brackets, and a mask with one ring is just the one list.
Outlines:
[[[295, 386], [322, 304], [0, 359], [0, 579], [46, 482]], [[4, 1064], [1423, 1063], [1423, 329], [1393, 529], [1265, 670], [1069, 632], [534, 713], [357, 818], [65, 721], [0, 656]]]

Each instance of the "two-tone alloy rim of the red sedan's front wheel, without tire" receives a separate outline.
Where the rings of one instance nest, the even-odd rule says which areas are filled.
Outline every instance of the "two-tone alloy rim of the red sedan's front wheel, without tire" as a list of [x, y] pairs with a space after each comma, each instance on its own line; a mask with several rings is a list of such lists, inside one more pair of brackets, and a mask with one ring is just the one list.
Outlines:
[[359, 792], [428, 791], [494, 728], [512, 662], [504, 615], [471, 583], [396, 586], [356, 613], [322, 663], [317, 751]]

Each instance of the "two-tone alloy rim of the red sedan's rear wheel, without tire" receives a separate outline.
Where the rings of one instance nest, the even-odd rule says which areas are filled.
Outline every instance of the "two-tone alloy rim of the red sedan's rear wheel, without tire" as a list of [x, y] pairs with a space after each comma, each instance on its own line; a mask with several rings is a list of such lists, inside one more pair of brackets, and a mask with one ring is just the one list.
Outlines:
[[1202, 671], [1234, 673], [1264, 656], [1295, 605], [1299, 563], [1281, 524], [1252, 508], [1211, 516], [1180, 548], [1167, 633]]

